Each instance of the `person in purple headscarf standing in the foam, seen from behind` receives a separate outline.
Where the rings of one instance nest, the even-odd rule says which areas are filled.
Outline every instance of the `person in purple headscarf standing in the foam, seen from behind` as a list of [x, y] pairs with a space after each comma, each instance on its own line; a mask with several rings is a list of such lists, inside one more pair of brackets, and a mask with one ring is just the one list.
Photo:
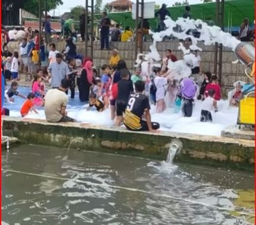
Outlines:
[[193, 112], [193, 102], [196, 94], [196, 84], [190, 78], [184, 78], [181, 81], [180, 93], [182, 96], [181, 110], [183, 116], [191, 117]]

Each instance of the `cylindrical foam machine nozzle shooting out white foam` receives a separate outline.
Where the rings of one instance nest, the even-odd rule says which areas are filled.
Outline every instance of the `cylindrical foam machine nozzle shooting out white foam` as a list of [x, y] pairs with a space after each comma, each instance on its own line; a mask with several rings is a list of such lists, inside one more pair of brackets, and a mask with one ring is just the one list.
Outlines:
[[[247, 68], [245, 74], [253, 78], [255, 75], [255, 49], [254, 47], [246, 42], [239, 43], [235, 48], [236, 57], [242, 61], [247, 68], [250, 68], [250, 73], [247, 73]], [[254, 82], [254, 80], [253, 80]]]

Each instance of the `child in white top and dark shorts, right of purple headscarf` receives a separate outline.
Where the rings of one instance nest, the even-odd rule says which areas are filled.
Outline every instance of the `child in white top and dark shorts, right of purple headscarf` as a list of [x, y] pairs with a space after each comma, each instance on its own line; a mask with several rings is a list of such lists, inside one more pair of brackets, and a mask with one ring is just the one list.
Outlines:
[[211, 111], [214, 108], [217, 111], [217, 101], [214, 99], [215, 91], [210, 89], [209, 96], [203, 101], [201, 110], [201, 122], [212, 122]]

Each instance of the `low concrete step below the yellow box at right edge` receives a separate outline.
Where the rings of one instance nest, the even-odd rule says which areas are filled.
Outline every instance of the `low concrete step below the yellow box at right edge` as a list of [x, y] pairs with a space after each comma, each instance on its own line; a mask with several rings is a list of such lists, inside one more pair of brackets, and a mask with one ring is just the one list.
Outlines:
[[221, 132], [221, 137], [254, 140], [255, 132], [252, 127], [241, 126], [241, 129], [239, 129], [238, 126], [229, 126]]

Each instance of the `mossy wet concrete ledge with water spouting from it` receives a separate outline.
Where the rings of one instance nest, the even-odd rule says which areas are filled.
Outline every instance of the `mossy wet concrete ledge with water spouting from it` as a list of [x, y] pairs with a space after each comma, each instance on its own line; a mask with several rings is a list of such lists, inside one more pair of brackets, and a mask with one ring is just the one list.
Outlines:
[[4, 135], [21, 142], [61, 148], [106, 151], [166, 159], [170, 143], [182, 142], [178, 162], [201, 163], [254, 170], [254, 141], [174, 132], [132, 132], [122, 127], [85, 123], [47, 123], [41, 119], [3, 117]]

